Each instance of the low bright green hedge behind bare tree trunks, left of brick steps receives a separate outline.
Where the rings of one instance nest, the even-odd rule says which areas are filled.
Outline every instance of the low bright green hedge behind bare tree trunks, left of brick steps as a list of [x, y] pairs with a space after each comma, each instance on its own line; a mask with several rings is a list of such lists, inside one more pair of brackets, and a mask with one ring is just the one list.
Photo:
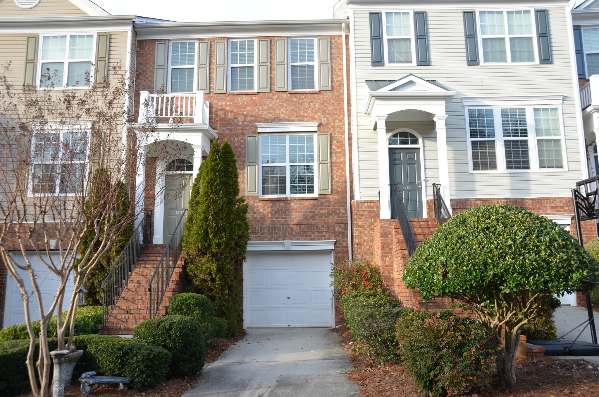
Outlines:
[[[66, 317], [66, 312], [62, 314]], [[40, 334], [40, 320], [32, 321], [35, 335]], [[98, 333], [98, 326], [102, 324], [102, 306], [81, 306], [75, 313], [75, 335], [87, 335]], [[69, 329], [66, 329], [66, 335], [69, 336]], [[56, 315], [52, 317], [48, 324], [48, 337], [56, 338]], [[12, 341], [14, 339], [29, 339], [27, 326], [25, 323], [14, 324], [10, 327], [0, 330], [0, 341]]]

